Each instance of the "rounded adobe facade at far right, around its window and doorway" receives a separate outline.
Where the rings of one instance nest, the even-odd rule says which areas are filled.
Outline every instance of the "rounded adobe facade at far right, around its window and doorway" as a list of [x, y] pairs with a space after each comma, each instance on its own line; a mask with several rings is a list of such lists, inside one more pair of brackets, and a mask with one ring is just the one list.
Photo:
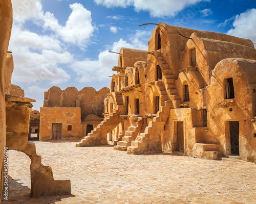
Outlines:
[[[225, 154], [230, 154], [230, 136], [228, 121], [239, 121], [240, 158], [256, 162], [256, 126], [255, 90], [256, 61], [238, 58], [228, 58], [220, 61], [211, 77], [211, 85], [205, 90], [209, 106], [207, 121], [209, 123], [208, 137], [211, 142], [218, 138], [223, 144]], [[216, 79], [216, 76], [218, 78]], [[232, 78], [234, 98], [225, 98], [225, 79]], [[218, 93], [218, 94], [216, 94]], [[210, 97], [214, 95], [214, 97]]]

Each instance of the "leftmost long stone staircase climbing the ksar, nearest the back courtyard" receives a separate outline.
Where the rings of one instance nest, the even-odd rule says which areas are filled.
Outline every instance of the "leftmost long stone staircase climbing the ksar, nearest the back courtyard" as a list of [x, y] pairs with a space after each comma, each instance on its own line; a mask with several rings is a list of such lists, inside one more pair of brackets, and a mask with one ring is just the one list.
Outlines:
[[76, 146], [100, 146], [108, 144], [106, 134], [112, 131], [121, 122], [119, 115], [124, 113], [122, 93], [115, 92], [115, 99], [116, 110], [113, 110], [113, 113], [106, 116], [104, 120], [101, 121], [100, 124], [98, 124], [98, 126], [89, 133], [88, 136], [84, 137]]

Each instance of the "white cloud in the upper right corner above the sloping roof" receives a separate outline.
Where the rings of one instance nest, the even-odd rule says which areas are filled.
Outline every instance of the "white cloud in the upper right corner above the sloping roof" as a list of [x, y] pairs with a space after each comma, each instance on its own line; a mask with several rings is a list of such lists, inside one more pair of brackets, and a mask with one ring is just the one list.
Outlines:
[[250, 9], [237, 15], [233, 21], [233, 27], [227, 32], [228, 35], [248, 38], [256, 43], [256, 9]]

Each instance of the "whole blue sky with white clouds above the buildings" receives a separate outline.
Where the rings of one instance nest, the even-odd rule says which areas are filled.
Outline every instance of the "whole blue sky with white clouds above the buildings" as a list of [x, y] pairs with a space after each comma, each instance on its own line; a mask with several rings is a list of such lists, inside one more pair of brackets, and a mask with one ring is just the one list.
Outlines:
[[33, 98], [52, 86], [110, 87], [121, 47], [147, 50], [156, 25], [226, 33], [256, 43], [256, 0], [12, 0], [12, 84]]

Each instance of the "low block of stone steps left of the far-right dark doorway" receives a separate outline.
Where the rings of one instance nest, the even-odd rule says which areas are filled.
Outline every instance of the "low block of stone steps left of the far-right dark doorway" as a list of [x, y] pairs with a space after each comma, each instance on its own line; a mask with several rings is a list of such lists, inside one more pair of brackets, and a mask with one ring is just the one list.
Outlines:
[[223, 157], [223, 145], [196, 143], [189, 155], [200, 159], [218, 160]]

